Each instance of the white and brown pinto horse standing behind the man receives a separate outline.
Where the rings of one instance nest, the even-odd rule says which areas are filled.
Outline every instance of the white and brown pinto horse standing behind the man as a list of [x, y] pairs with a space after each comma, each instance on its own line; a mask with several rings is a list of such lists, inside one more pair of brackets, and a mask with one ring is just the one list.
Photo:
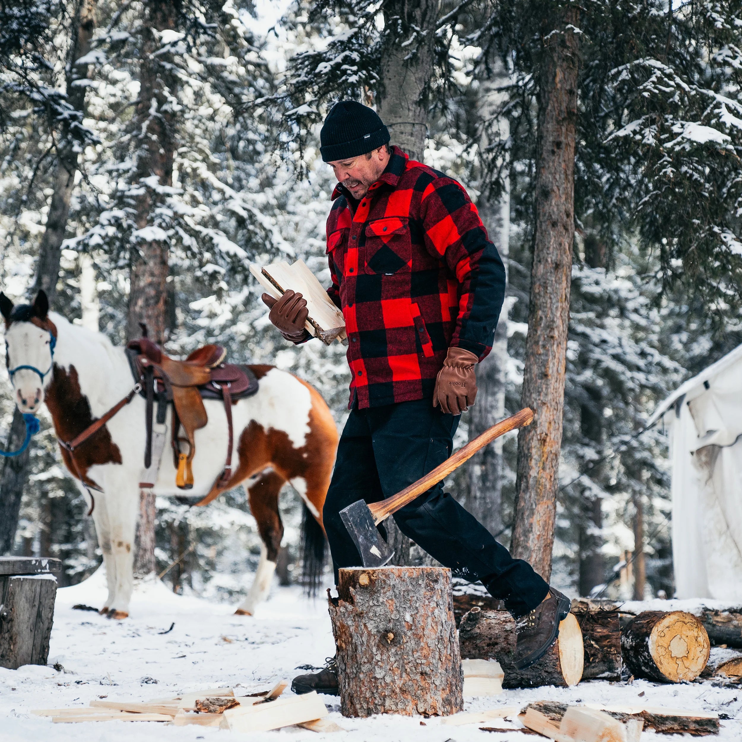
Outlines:
[[[0, 293], [5, 318], [6, 361], [15, 402], [22, 413], [36, 413], [46, 402], [60, 441], [70, 441], [124, 398], [134, 387], [125, 352], [100, 332], [70, 324], [48, 312], [46, 295], [32, 304], [13, 303]], [[222, 488], [244, 482], [263, 547], [260, 564], [238, 614], [252, 614], [266, 597], [283, 536], [278, 493], [284, 482], [301, 495], [305, 508], [305, 573], [317, 577], [324, 559], [322, 506], [329, 487], [338, 432], [319, 393], [294, 375], [272, 366], [251, 366], [260, 389], [232, 407], [234, 424], [232, 478]], [[224, 405], [205, 399], [209, 423], [196, 431], [194, 487], [188, 496], [205, 496], [223, 470], [228, 428]], [[168, 437], [172, 419], [168, 405]], [[134, 587], [132, 548], [139, 514], [139, 481], [145, 454], [145, 400], [134, 395], [104, 427], [62, 459], [88, 500], [79, 477], [100, 490], [93, 520], [108, 578], [104, 610], [128, 616]], [[154, 493], [179, 496], [173, 457], [162, 455]], [[309, 513], [311, 516], [308, 516]]]

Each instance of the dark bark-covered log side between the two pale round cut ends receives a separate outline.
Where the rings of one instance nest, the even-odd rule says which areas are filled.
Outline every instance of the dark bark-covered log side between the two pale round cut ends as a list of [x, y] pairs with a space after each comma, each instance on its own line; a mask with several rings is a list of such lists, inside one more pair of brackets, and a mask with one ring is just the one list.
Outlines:
[[582, 680], [621, 679], [621, 630], [615, 609], [583, 607], [572, 601], [572, 612], [582, 630], [585, 667]]

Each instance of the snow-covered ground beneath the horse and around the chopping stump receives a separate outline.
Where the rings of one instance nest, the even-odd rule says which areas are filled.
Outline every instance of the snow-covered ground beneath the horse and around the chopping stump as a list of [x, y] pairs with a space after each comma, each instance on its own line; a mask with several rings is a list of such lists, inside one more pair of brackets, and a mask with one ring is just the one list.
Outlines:
[[[161, 582], [139, 585], [131, 617], [111, 621], [92, 612], [72, 609], [76, 603], [99, 606], [105, 598], [102, 574], [59, 591], [51, 635], [49, 666], [0, 669], [0, 740], [148, 742], [248, 738], [272, 740], [347, 739], [430, 742], [524, 742], [519, 732], [490, 735], [479, 726], [519, 726], [517, 720], [495, 720], [487, 725], [443, 726], [437, 719], [378, 716], [345, 719], [338, 699], [325, 696], [334, 720], [347, 734], [317, 735], [298, 727], [255, 735], [236, 735], [198, 726], [167, 726], [156, 722], [90, 722], [53, 724], [30, 715], [30, 709], [88, 706], [100, 697], [148, 700], [218, 686], [237, 689], [238, 695], [269, 689], [283, 677], [302, 672], [296, 666], [321, 665], [333, 654], [332, 631], [324, 600], [307, 600], [298, 588], [275, 587], [257, 616], [238, 617], [234, 606], [178, 597]], [[662, 608], [683, 603], [663, 601]], [[635, 606], [632, 606], [635, 607]], [[171, 623], [172, 631], [166, 634]], [[63, 669], [55, 670], [59, 663]], [[508, 690], [497, 697], [467, 699], [465, 710], [497, 706], [525, 706], [533, 700], [567, 703], [646, 703], [683, 709], [716, 711], [722, 721], [718, 740], [742, 740], [742, 688], [717, 688], [712, 683], [657, 685], [589, 681], [573, 689], [554, 687]], [[739, 720], [737, 720], [739, 719]], [[643, 740], [670, 740], [644, 732]], [[677, 735], [674, 739], [678, 740]]]

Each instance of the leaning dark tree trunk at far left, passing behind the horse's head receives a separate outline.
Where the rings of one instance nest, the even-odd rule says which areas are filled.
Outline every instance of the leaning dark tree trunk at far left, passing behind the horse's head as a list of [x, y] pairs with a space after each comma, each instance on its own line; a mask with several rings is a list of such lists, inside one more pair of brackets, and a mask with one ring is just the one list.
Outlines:
[[[81, 0], [78, 7], [76, 37], [70, 59], [80, 59], [90, 51], [90, 42], [95, 30], [96, 0]], [[59, 149], [54, 178], [54, 191], [47, 214], [46, 229], [39, 245], [39, 259], [36, 262], [36, 280], [32, 294], [44, 289], [50, 306], [56, 299], [56, 283], [59, 279], [59, 258], [62, 255], [62, 240], [65, 239], [67, 220], [70, 213], [70, 200], [77, 171], [77, 151], [70, 137], [70, 122], [82, 122], [85, 110], [85, 85], [73, 85], [78, 79], [88, 76], [88, 65], [70, 65], [67, 80], [68, 103], [79, 111], [79, 116], [70, 116], [62, 125], [59, 136]], [[26, 437], [26, 425], [18, 407], [13, 410], [13, 422], [7, 438], [6, 450], [21, 447]], [[13, 459], [3, 459], [0, 473], [0, 554], [7, 554], [13, 548], [18, 528], [23, 490], [28, 480], [28, 459], [30, 449]]]

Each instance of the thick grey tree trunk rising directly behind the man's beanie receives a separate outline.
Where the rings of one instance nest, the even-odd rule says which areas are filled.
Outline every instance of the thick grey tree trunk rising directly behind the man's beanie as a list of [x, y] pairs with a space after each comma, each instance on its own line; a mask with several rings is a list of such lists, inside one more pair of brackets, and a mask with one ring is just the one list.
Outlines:
[[[381, 85], [376, 109], [410, 160], [422, 161], [427, 132], [427, 104], [433, 74], [438, 0], [396, 2], [384, 7], [387, 45], [381, 56]], [[403, 45], [412, 39], [412, 43]]]

